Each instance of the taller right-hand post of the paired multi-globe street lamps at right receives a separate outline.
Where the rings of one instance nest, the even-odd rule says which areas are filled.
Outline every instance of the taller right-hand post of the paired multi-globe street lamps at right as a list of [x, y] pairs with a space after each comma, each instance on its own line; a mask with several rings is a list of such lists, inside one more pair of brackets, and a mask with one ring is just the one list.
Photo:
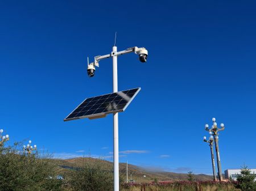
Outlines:
[[217, 122], [216, 118], [212, 118], [213, 125], [212, 128], [209, 129], [208, 124], [205, 125], [205, 130], [212, 132], [215, 142], [215, 150], [216, 150], [216, 156], [217, 156], [217, 165], [218, 165], [218, 179], [222, 181], [222, 171], [221, 171], [221, 162], [220, 162], [220, 150], [218, 148], [218, 131], [222, 131], [225, 129], [224, 124], [220, 124], [221, 128], [217, 128]]

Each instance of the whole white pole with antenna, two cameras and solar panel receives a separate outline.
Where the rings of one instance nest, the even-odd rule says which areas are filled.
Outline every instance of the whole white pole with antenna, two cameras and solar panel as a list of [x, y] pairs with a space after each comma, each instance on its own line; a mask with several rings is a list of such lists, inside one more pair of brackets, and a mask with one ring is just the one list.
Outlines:
[[[115, 39], [116, 39], [116, 33], [115, 33]], [[118, 82], [117, 82], [117, 57], [124, 55], [124, 54], [129, 54], [129, 53], [135, 53], [139, 56], [139, 61], [141, 62], [147, 62], [147, 56], [148, 56], [148, 51], [146, 48], [138, 48], [137, 46], [133, 46], [131, 48], [127, 48], [126, 50], [121, 50], [117, 52], [117, 46], [113, 46], [112, 52], [105, 54], [104, 56], [95, 56], [94, 61], [89, 63], [89, 57], [87, 59], [88, 66], [87, 66], [87, 74], [89, 77], [94, 77], [94, 73], [96, 71], [96, 66], [99, 67], [99, 62], [101, 60], [104, 60], [106, 58], [111, 58], [113, 60], [113, 94], [110, 95], [118, 95]], [[135, 67], [137, 69], [138, 66]], [[89, 118], [89, 119], [96, 119], [96, 118], [101, 118], [101, 117], [106, 117], [107, 114], [113, 113], [113, 142], [114, 142], [114, 191], [119, 191], [119, 154], [118, 154], [118, 112], [122, 112], [125, 110], [125, 108], [130, 104], [131, 100], [135, 95], [138, 94], [138, 91], [141, 90], [141, 88], [136, 88], [137, 90], [135, 92], [131, 92], [130, 96], [126, 95], [124, 92], [119, 92], [121, 96], [124, 99], [118, 100], [118, 104], [121, 103], [121, 101], [125, 101], [125, 103], [118, 105], [115, 103], [113, 99], [117, 98], [117, 96], [114, 97], [109, 97], [108, 102], [105, 103], [100, 103], [96, 104], [97, 101], [100, 100], [101, 96], [97, 96], [96, 102], [94, 102], [94, 98], [96, 97], [90, 97], [91, 101], [85, 103], [81, 103], [72, 113], [70, 113], [64, 121], [69, 121], [69, 120], [76, 120], [79, 118]], [[130, 90], [129, 90], [130, 91]], [[127, 92], [129, 92], [127, 91]], [[117, 93], [115, 93], [117, 92]], [[108, 94], [106, 94], [108, 95]], [[109, 96], [110, 96], [109, 95]], [[105, 100], [107, 97], [105, 97]], [[113, 98], [113, 99], [112, 99]], [[88, 105], [87, 105], [88, 104]], [[94, 105], [96, 104], [96, 105]], [[104, 107], [101, 107], [102, 104], [104, 104]], [[112, 105], [113, 104], [113, 105]], [[83, 106], [82, 106], [83, 105]], [[88, 107], [85, 107], [87, 105]], [[110, 106], [110, 108], [108, 108]], [[94, 108], [95, 107], [95, 108]], [[81, 110], [81, 108], [83, 108]], [[91, 109], [92, 108], [92, 109]], [[94, 108], [94, 109], [93, 109]], [[118, 109], [119, 108], [119, 109]], [[77, 110], [78, 109], [78, 110]], [[85, 110], [84, 110], [85, 109]], [[110, 109], [110, 111], [109, 111]], [[75, 112], [76, 111], [76, 112]]]

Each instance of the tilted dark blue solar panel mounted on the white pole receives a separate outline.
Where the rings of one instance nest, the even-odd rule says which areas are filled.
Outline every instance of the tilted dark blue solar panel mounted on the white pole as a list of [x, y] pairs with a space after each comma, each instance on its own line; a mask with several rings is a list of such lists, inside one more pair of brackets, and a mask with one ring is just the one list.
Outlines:
[[139, 87], [87, 98], [64, 121], [77, 120], [79, 118], [100, 118], [109, 113], [123, 112], [140, 90], [141, 88]]

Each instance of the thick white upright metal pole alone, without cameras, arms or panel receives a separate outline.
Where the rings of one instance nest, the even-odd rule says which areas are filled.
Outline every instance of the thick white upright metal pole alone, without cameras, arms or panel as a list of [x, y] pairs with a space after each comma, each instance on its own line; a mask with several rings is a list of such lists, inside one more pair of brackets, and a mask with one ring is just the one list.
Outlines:
[[[117, 86], [117, 46], [113, 46], [113, 92], [118, 91]], [[118, 113], [113, 113], [114, 131], [114, 191], [119, 191], [119, 154], [118, 154]]]

